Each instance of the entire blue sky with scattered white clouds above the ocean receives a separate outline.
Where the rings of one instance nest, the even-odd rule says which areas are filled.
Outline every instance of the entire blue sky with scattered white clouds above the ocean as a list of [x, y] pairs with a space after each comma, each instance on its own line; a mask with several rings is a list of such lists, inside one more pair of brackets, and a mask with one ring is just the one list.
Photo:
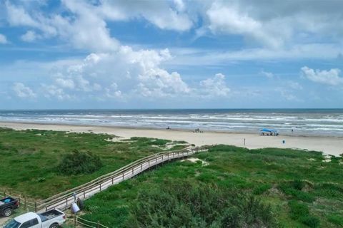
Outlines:
[[0, 0], [0, 109], [343, 108], [342, 9]]

